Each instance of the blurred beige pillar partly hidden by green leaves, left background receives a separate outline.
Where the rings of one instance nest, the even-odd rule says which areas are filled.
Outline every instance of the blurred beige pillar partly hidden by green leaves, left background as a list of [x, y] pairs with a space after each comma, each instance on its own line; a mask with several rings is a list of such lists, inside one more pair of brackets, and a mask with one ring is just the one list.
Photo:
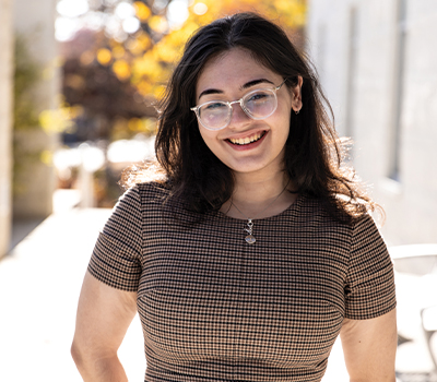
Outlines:
[[[36, 111], [55, 110], [59, 94], [57, 68], [57, 43], [55, 40], [56, 0], [14, 0], [14, 28], [23, 36], [29, 53], [40, 68], [40, 80], [34, 88]], [[38, 153], [39, 158], [25, 164], [17, 177], [25, 184], [22, 192], [14, 195], [13, 214], [16, 218], [44, 218], [52, 212], [55, 171], [50, 164], [50, 153], [57, 144], [57, 135], [43, 129], [15, 134], [21, 147], [29, 153]]]

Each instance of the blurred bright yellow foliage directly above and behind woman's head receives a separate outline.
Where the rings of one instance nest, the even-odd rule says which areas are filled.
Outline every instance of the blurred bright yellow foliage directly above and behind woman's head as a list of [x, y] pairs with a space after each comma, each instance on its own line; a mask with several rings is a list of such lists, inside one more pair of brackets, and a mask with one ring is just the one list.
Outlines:
[[[200, 26], [226, 14], [245, 11], [280, 23], [290, 34], [302, 29], [306, 23], [306, 0], [193, 0], [189, 3], [185, 23], [169, 28], [164, 15], [153, 15], [144, 2], [134, 1], [137, 16], [142, 23], [147, 23], [154, 35], [153, 40], [140, 29], [125, 43], [125, 47], [113, 41], [113, 52], [99, 49], [98, 62], [108, 65], [114, 59], [113, 70], [118, 79], [130, 79], [142, 96], [160, 98], [185, 43]], [[137, 122], [131, 122], [129, 129], [132, 123]]]

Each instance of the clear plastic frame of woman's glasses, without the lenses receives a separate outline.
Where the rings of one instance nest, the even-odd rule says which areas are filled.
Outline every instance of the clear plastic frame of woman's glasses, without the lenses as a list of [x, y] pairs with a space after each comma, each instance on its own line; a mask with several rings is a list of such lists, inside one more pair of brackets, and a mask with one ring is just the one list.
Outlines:
[[[255, 119], [255, 120], [265, 119], [265, 118], [270, 117], [274, 111], [276, 111], [276, 108], [277, 108], [276, 92], [282, 87], [283, 84], [285, 84], [285, 82], [286, 82], [286, 79], [279, 86], [256, 88], [256, 89], [250, 91], [249, 93], [245, 94], [241, 98], [239, 98], [237, 100], [232, 100], [232, 102], [228, 102], [228, 100], [209, 100], [209, 102], [203, 103], [201, 105], [198, 105], [196, 107], [191, 107], [190, 110], [196, 112], [198, 121], [205, 129], [212, 130], [212, 131], [222, 130], [222, 129], [226, 128], [231, 123], [232, 115], [233, 115], [233, 111], [234, 111], [234, 109], [233, 109], [233, 105], [234, 104], [239, 104], [239, 106], [241, 107], [243, 111], [245, 111], [245, 114], [248, 117], [250, 117], [251, 119]], [[271, 94], [274, 97], [273, 98], [274, 105], [273, 105], [272, 109], [268, 114], [257, 117], [257, 116], [253, 116], [250, 112], [250, 110], [246, 107], [246, 103], [247, 103], [248, 99], [250, 99], [250, 96], [252, 96], [253, 94], [259, 93], [259, 92], [271, 92]], [[217, 128], [211, 128], [211, 127], [208, 126], [208, 123], [202, 121], [202, 118], [200, 117], [200, 108], [202, 108], [204, 106], [208, 106], [208, 105], [223, 105], [223, 106], [227, 107], [227, 115], [226, 115], [226, 119], [224, 120], [223, 126], [220, 126]]]

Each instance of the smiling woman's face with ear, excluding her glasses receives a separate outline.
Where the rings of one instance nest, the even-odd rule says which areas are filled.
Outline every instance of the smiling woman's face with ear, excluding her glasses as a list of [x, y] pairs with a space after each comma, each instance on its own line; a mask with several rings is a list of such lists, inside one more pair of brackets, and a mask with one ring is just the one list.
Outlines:
[[[240, 99], [253, 89], [279, 86], [284, 80], [261, 65], [248, 51], [234, 48], [205, 64], [197, 83], [197, 105]], [[211, 131], [199, 123], [208, 147], [236, 174], [272, 175], [283, 169], [292, 107], [300, 108], [300, 86], [290, 91], [284, 84], [276, 96], [277, 108], [265, 119], [253, 120], [239, 104], [234, 104], [226, 128]]]

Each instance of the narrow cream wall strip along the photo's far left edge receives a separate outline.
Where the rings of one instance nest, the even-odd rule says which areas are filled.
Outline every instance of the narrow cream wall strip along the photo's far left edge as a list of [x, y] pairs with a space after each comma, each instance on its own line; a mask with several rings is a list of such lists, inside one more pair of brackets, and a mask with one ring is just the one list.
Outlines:
[[0, 258], [9, 248], [12, 181], [12, 0], [0, 0]]

